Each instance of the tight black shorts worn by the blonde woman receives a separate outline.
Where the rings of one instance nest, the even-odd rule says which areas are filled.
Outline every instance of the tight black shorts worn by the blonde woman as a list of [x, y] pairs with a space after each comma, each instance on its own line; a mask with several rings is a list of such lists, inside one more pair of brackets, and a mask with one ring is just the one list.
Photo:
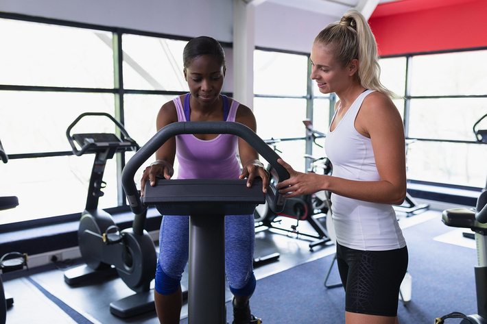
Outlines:
[[337, 243], [337, 264], [347, 312], [396, 316], [399, 287], [407, 270], [407, 247], [360, 251]]

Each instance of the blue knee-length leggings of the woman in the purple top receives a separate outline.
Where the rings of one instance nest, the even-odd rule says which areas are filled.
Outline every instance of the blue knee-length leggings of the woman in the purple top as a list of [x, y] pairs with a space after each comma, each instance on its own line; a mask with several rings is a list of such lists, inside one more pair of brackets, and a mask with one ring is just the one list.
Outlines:
[[[225, 270], [234, 295], [250, 296], [255, 290], [254, 245], [254, 215], [225, 216]], [[189, 216], [163, 216], [159, 248], [155, 289], [171, 295], [189, 258]]]

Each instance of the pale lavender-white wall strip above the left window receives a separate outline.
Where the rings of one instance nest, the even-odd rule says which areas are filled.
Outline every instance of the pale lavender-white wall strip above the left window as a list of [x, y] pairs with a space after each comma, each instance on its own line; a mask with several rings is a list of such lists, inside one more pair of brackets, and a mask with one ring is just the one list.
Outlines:
[[1, 0], [0, 11], [223, 42], [233, 38], [230, 0]]

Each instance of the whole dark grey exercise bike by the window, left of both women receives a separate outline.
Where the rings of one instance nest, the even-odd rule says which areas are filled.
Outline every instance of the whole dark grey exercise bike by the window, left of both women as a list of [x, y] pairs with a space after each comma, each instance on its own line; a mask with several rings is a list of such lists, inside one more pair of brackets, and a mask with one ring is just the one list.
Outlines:
[[[121, 138], [115, 134], [73, 134], [71, 129], [85, 116], [108, 117], [119, 129]], [[95, 153], [86, 208], [82, 212], [78, 229], [78, 245], [86, 265], [64, 272], [64, 281], [69, 285], [89, 282], [95, 278], [108, 277], [115, 272], [134, 292], [134, 295], [110, 303], [110, 312], [126, 318], [155, 310], [154, 296], [150, 282], [156, 275], [156, 247], [145, 231], [146, 211], [136, 214], [132, 227], [120, 230], [112, 216], [98, 208], [99, 197], [104, 195], [102, 188], [106, 161], [115, 153], [136, 151], [139, 145], [130, 138], [126, 129], [117, 119], [103, 112], [80, 114], [69, 125], [66, 136], [75, 155]], [[80, 146], [80, 150], [75, 145]]]

